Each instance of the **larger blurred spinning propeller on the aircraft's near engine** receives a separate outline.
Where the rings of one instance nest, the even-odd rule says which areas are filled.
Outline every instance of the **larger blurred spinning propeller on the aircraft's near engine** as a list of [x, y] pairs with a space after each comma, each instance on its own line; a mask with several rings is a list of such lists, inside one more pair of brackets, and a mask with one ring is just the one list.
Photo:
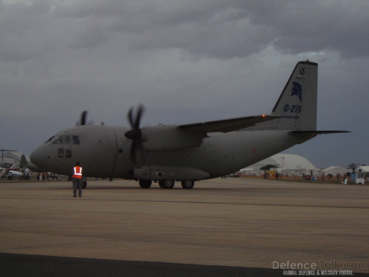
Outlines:
[[131, 125], [131, 130], [125, 132], [124, 136], [130, 140], [132, 140], [131, 144], [131, 161], [133, 163], [137, 163], [137, 153], [141, 152], [142, 147], [142, 133], [141, 129], [139, 129], [142, 114], [145, 111], [145, 107], [142, 104], [139, 104], [136, 108], [135, 115], [134, 115], [134, 107], [127, 113], [128, 121]]

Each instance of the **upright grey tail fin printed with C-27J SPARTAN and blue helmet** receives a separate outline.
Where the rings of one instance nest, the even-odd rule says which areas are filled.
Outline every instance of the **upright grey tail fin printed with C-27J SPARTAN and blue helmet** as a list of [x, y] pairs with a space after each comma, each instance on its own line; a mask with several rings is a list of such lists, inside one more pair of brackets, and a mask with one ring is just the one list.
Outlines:
[[298, 62], [279, 96], [272, 114], [282, 116], [276, 120], [276, 129], [317, 129], [318, 64]]

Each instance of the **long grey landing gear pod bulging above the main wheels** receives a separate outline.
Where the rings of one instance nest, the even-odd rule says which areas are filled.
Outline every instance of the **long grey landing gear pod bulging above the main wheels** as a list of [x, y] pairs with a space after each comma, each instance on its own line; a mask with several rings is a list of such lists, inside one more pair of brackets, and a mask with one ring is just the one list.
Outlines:
[[203, 180], [210, 177], [208, 172], [197, 168], [170, 165], [144, 165], [133, 168], [129, 173], [136, 179], [149, 181], [161, 181], [163, 179], [173, 179], [177, 181]]

